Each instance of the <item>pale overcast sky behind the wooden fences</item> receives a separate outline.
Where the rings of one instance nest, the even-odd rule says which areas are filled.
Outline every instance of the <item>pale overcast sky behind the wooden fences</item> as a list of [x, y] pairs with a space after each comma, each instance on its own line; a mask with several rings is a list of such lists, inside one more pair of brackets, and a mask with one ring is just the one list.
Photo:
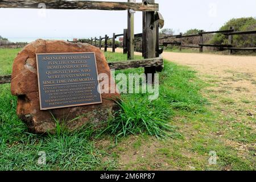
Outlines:
[[[155, 2], [159, 3], [159, 11], [166, 21], [164, 27], [172, 28], [176, 33], [190, 28], [213, 31], [231, 18], [256, 17], [255, 0]], [[112, 35], [113, 32], [121, 34], [127, 27], [127, 11], [0, 9], [0, 19], [0, 35], [14, 42], [36, 38], [90, 38]], [[135, 32], [142, 32], [140, 12], [135, 13]]]

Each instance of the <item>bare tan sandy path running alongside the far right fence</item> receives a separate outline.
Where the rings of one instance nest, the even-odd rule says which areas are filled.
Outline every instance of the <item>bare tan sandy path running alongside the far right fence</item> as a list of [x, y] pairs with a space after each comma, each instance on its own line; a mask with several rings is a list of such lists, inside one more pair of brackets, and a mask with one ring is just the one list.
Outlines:
[[[122, 52], [122, 49], [117, 48], [115, 51]], [[141, 53], [135, 52], [135, 55], [141, 55]], [[162, 56], [166, 60], [195, 69], [201, 77], [205, 75], [215, 77], [221, 81], [222, 86], [243, 90], [244, 92], [239, 93], [240, 96], [256, 97], [256, 56], [179, 52], [163, 52]]]

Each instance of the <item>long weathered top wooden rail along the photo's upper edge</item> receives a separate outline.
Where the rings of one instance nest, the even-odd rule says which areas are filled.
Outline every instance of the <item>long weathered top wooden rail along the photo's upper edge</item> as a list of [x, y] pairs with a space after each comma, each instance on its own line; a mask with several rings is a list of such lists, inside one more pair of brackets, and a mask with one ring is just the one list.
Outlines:
[[40, 9], [77, 9], [77, 10], [135, 10], [158, 11], [157, 3], [105, 2], [105, 1], [67, 1], [67, 0], [2, 0], [0, 8]]

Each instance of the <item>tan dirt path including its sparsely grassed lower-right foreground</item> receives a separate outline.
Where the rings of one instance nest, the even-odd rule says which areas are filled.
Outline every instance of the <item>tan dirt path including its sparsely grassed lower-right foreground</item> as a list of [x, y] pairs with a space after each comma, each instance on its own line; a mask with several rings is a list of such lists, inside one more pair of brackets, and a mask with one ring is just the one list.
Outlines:
[[[162, 56], [194, 69], [206, 83], [201, 94], [209, 101], [207, 113], [177, 115], [172, 119], [172, 125], [179, 128], [184, 140], [159, 142], [154, 138], [129, 138], [123, 141], [121, 145], [126, 148], [117, 151], [121, 169], [230, 170], [236, 169], [234, 166], [240, 169], [248, 166], [247, 162], [255, 168], [256, 56], [174, 52], [164, 52]], [[139, 141], [143, 144], [134, 152], [133, 144]], [[225, 164], [218, 163], [217, 168], [211, 167], [207, 164], [210, 150], [217, 155], [230, 152], [236, 160], [230, 158]]]

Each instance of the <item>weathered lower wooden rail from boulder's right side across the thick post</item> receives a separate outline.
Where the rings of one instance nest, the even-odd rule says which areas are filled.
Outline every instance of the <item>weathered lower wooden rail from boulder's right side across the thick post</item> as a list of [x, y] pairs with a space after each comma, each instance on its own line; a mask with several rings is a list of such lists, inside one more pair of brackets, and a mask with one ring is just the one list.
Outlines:
[[147, 68], [147, 67], [159, 67], [163, 65], [163, 59], [156, 57], [151, 59], [143, 59], [143, 60], [130, 60], [130, 61], [122, 61], [109, 63], [110, 69], [128, 69], [128, 68]]

